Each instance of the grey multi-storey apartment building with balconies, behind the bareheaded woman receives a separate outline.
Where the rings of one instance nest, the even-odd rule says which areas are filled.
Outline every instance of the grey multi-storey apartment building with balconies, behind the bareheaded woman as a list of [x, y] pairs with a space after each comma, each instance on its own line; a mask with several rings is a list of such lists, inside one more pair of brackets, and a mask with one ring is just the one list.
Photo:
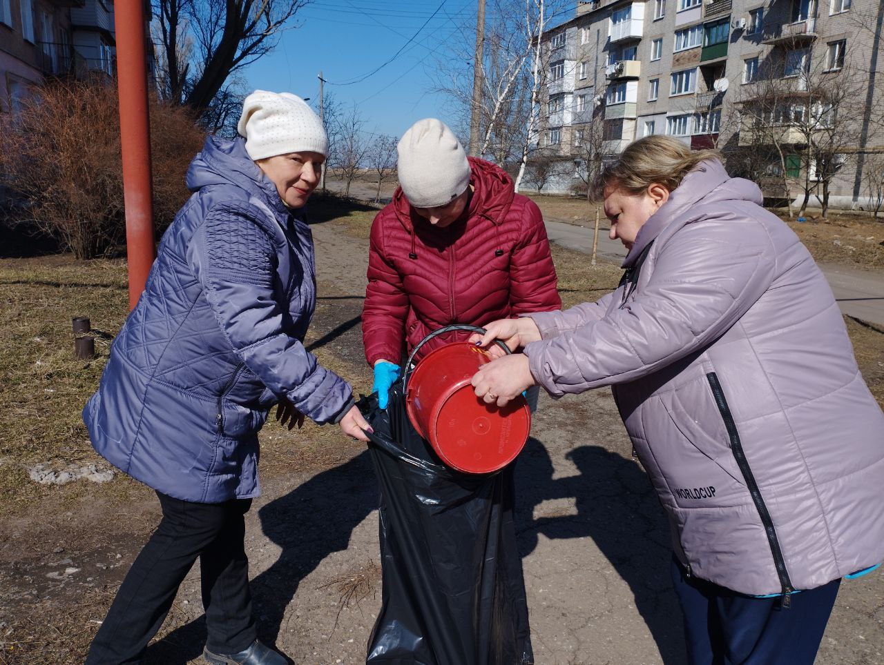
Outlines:
[[[884, 153], [884, 44], [874, 27], [882, 12], [880, 0], [578, 2], [543, 39], [537, 146], [559, 161], [546, 189], [581, 184], [590, 136], [592, 150], [612, 155], [668, 134], [719, 147], [735, 163], [765, 155], [760, 172], [771, 178], [756, 179], [773, 196], [783, 193], [774, 182], [797, 196], [828, 169], [830, 203], [864, 206], [864, 166]], [[822, 148], [808, 145], [827, 128], [824, 165]]]

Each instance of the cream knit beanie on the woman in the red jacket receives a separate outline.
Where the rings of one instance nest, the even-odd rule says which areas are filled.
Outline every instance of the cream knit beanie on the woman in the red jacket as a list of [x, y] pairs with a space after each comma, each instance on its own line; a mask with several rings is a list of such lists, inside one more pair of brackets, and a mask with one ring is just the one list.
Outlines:
[[418, 120], [399, 142], [399, 184], [415, 208], [447, 206], [469, 185], [461, 143], [434, 117]]

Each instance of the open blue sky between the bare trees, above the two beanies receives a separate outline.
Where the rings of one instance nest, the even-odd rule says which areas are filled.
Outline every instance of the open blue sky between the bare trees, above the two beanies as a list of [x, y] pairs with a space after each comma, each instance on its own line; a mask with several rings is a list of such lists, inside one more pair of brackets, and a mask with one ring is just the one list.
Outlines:
[[438, 58], [451, 57], [457, 32], [475, 40], [476, 0], [312, 0], [297, 17], [299, 27], [241, 72], [249, 88], [289, 91], [313, 103], [322, 70], [326, 91], [339, 103], [356, 102], [369, 132], [401, 136], [422, 117], [446, 119], [446, 98], [430, 92], [431, 72]]

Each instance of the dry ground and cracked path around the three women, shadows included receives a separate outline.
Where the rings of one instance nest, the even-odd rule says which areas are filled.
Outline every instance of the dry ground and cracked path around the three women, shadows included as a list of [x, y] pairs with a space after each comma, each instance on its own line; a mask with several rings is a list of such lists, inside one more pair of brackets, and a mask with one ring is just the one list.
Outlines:
[[[368, 206], [319, 215], [319, 304], [306, 341], [363, 392], [370, 374], [359, 315], [373, 215]], [[583, 254], [558, 247], [554, 258], [567, 305], [598, 298], [620, 276], [612, 265], [591, 268]], [[0, 663], [82, 661], [159, 519], [152, 493], [121, 475], [103, 485], [27, 480], [27, 465], [37, 461], [100, 462], [78, 424], [77, 403], [96, 384], [107, 349], [99, 344], [99, 358], [85, 366], [65, 349], [72, 315], [90, 314], [96, 328], [116, 333], [125, 316], [125, 269], [111, 261], [89, 281], [71, 279], [83, 272], [65, 259], [0, 261], [0, 320], [20, 355], [19, 367], [0, 356]], [[851, 321], [850, 334], [884, 400], [884, 333]], [[44, 392], [72, 385], [57, 399]], [[338, 432], [308, 425], [289, 433], [271, 419], [262, 433], [263, 496], [247, 516], [262, 637], [297, 663], [364, 661], [380, 605], [376, 482], [362, 444]], [[610, 391], [542, 397], [516, 487], [537, 663], [684, 662], [667, 525]], [[194, 569], [146, 662], [198, 662], [201, 617]], [[819, 662], [884, 662], [880, 571], [842, 586]]]

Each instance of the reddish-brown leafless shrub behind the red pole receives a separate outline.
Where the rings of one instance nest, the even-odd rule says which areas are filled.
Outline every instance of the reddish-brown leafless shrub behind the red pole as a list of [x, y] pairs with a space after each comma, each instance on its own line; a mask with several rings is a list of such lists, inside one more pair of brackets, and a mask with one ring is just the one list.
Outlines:
[[[20, 201], [13, 223], [57, 238], [80, 259], [125, 234], [118, 99], [100, 82], [35, 88], [16, 116], [0, 117], [0, 173]], [[150, 104], [154, 215], [164, 230], [187, 200], [187, 164], [204, 134], [185, 110]]]

